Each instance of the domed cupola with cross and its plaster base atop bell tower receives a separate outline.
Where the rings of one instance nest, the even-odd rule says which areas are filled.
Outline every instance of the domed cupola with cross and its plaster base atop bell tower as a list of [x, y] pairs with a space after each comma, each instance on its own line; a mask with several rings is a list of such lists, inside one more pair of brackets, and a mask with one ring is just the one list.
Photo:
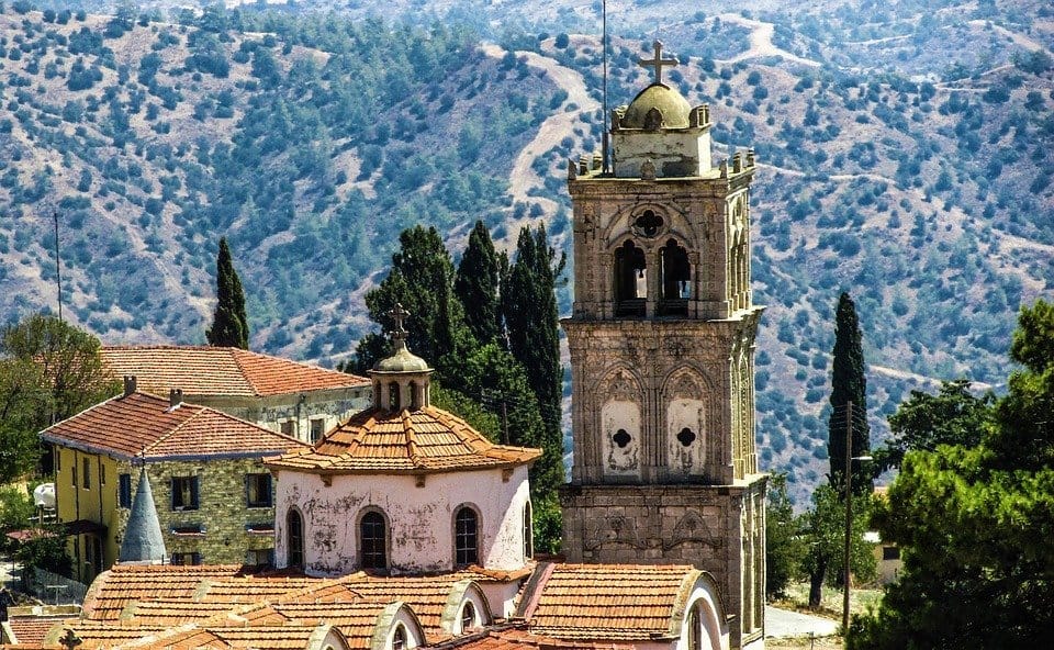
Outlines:
[[629, 105], [612, 111], [615, 176], [699, 176], [710, 169], [709, 107], [693, 108], [662, 82], [662, 68], [677, 65], [677, 59], [662, 57], [662, 43], [655, 41], [653, 46], [654, 57], [640, 65], [653, 68], [655, 80]]

